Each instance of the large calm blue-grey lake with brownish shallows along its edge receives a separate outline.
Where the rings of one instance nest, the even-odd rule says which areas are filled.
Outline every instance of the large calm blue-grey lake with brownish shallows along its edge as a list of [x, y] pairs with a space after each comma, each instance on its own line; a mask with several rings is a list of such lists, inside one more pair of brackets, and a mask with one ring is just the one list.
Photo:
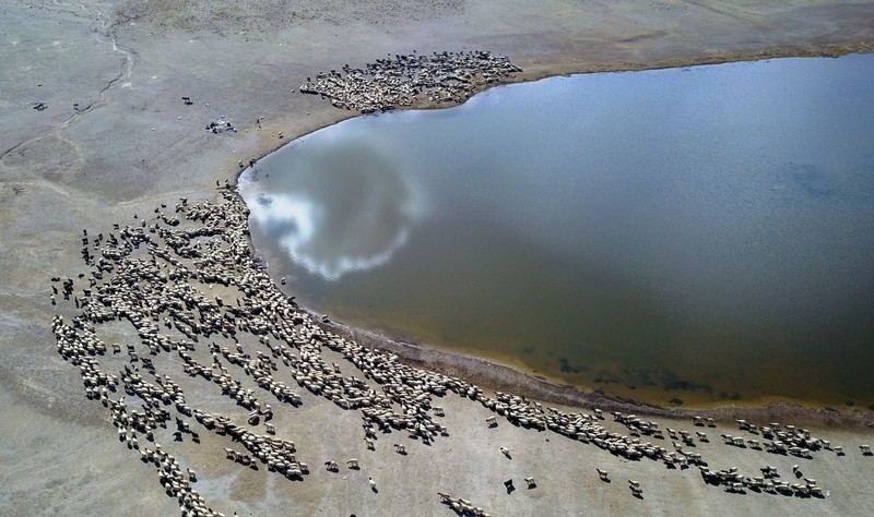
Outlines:
[[660, 405], [874, 405], [874, 55], [358, 117], [240, 192], [343, 323]]

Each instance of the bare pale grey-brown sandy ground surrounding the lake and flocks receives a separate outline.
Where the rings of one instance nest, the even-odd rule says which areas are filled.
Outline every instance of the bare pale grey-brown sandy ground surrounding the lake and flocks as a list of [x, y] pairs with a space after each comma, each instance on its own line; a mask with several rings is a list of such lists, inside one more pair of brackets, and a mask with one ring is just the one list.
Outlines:
[[[350, 115], [294, 93], [306, 76], [414, 49], [505, 53], [525, 70], [519, 80], [836, 55], [872, 49], [872, 20], [874, 2], [825, 1], [0, 2], [0, 514], [177, 512], [153, 467], [115, 440], [75, 369], [55, 352], [48, 279], [83, 270], [83, 228], [107, 231], [180, 195], [212, 197], [238, 160]], [[37, 101], [48, 109], [33, 109]], [[220, 116], [239, 132], [203, 131]], [[265, 117], [261, 131], [258, 117]], [[217, 442], [184, 444], [178, 454], [200, 465], [198, 490], [226, 515], [451, 515], [437, 491], [493, 515], [862, 515], [874, 507], [874, 458], [857, 447], [874, 442], [864, 414], [853, 419], [860, 425], [817, 431], [847, 446], [841, 458], [799, 460], [719, 440], [699, 445], [714, 468], [755, 471], [769, 462], [787, 477], [800, 462], [830, 493], [817, 500], [728, 494], [694, 469], [629, 462], [506, 422], [488, 430], [484, 408], [451, 396], [444, 406], [450, 436], [433, 447], [411, 444], [402, 457], [387, 440], [365, 450], [353, 411], [305, 398], [300, 410], [277, 417], [277, 429], [310, 452], [310, 465], [356, 456], [363, 468], [330, 476], [314, 468], [303, 483], [213, 461], [204, 450], [221, 450]], [[662, 421], [692, 429], [687, 420]], [[599, 481], [595, 467], [613, 482]], [[524, 489], [528, 476], [536, 489]], [[508, 495], [501, 481], [510, 477], [519, 490]], [[640, 480], [642, 500], [631, 497], [629, 478]]]

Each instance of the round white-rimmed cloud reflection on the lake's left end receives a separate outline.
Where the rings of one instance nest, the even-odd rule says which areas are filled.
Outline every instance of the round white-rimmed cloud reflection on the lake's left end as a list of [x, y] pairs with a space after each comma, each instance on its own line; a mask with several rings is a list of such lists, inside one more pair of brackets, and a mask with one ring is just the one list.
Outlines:
[[246, 195], [258, 196], [252, 219], [296, 264], [331, 281], [389, 262], [422, 212], [410, 180], [373, 147], [310, 153], [270, 179], [273, 193], [258, 181], [258, 170], [244, 178]]

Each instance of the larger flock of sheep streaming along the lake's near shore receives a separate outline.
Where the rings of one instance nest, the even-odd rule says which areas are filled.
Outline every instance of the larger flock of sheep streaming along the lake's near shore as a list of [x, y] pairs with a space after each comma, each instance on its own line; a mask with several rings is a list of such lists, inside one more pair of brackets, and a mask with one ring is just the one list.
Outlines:
[[[487, 426], [506, 422], [531, 432], [557, 433], [628, 460], [697, 467], [704, 482], [727, 492], [824, 496], [815, 480], [789, 484], [777, 480], [770, 467], [756, 476], [709, 466], [690, 449], [696, 441], [708, 441], [706, 429], [714, 426], [709, 419], [697, 418], [694, 424], [701, 430], [693, 435], [616, 412], [610, 425], [624, 426], [621, 433], [607, 428], [598, 409], [568, 412], [511, 394], [489, 396], [461, 378], [403, 364], [392, 353], [339, 337], [283, 294], [253, 256], [249, 212], [236, 192], [225, 187], [218, 197], [200, 204], [180, 199], [175, 207], [162, 205], [149, 218], [134, 216], [132, 225], [115, 225], [107, 236], [83, 231], [82, 256], [90, 273], [52, 279], [51, 302], [67, 302], [64, 315], [51, 323], [58, 353], [79, 369], [86, 397], [108, 410], [119, 441], [154, 465], [158, 481], [178, 500], [184, 515], [221, 514], [194, 489], [197, 474], [191, 467], [184, 469], [160, 442], [172, 434], [175, 441], [200, 443], [199, 433], [215, 433], [233, 442], [225, 448], [228, 460], [303, 481], [310, 471], [297, 456], [307, 452], [276, 437], [271, 423], [271, 404], [288, 411], [305, 404], [299, 389], [357, 411], [368, 448], [389, 433], [406, 433], [411, 444], [440, 440], [448, 429], [440, 423], [445, 410], [435, 399], [459, 396], [493, 411], [484, 422]], [[127, 332], [118, 333], [119, 325]], [[107, 342], [108, 336], [122, 342]], [[326, 359], [329, 350], [343, 359]], [[221, 393], [247, 417], [235, 421], [190, 404], [178, 380], [156, 368], [157, 358], [167, 356], [191, 382]], [[291, 374], [296, 385], [275, 378], [279, 371]], [[256, 387], [245, 387], [240, 376]], [[824, 450], [843, 454], [840, 446], [804, 429], [756, 426], [743, 420], [737, 424], [745, 434], [740, 442], [723, 435], [727, 446], [763, 447], [799, 458]], [[406, 447], [394, 444], [399, 454]], [[866, 445], [860, 448], [871, 454]], [[509, 449], [501, 453], [509, 457]], [[319, 461], [338, 470], [333, 458]], [[346, 465], [359, 468], [357, 458]], [[606, 470], [598, 469], [598, 476], [609, 479]], [[536, 488], [533, 478], [525, 481], [530, 490]], [[376, 481], [369, 482], [376, 491]], [[629, 480], [629, 489], [641, 496], [638, 481]], [[459, 514], [487, 515], [465, 500], [439, 497]]]

